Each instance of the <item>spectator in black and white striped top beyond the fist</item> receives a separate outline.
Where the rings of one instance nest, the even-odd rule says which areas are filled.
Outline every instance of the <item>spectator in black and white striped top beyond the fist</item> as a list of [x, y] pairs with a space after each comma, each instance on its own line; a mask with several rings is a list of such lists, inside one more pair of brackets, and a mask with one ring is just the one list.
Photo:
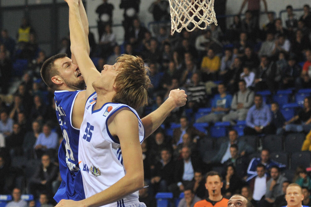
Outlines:
[[187, 87], [187, 106], [195, 113], [198, 108], [206, 106], [207, 94], [205, 84], [200, 81], [200, 73], [194, 73]]

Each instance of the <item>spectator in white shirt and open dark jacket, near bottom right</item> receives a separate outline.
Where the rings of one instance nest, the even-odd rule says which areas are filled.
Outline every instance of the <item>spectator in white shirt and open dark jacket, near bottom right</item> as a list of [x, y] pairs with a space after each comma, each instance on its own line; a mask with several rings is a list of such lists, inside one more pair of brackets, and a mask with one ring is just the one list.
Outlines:
[[261, 163], [257, 164], [256, 174], [249, 180], [249, 186], [253, 191], [253, 202], [256, 206], [260, 206], [259, 202], [267, 191], [268, 176], [265, 173], [265, 166]]

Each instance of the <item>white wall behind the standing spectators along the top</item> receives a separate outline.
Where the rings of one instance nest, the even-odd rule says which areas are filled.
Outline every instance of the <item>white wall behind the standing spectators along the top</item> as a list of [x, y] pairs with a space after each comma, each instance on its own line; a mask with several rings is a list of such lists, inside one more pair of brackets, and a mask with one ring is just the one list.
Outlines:
[[[145, 23], [145, 26], [148, 25], [149, 22], [153, 21], [151, 13], [148, 12], [148, 7], [151, 5], [151, 3], [154, 0], [141, 0], [140, 4], [140, 11], [139, 11], [139, 17], [143, 23]], [[217, 0], [215, 0], [217, 1]], [[121, 24], [123, 20], [123, 9], [121, 10], [119, 8], [120, 1], [119, 0], [109, 0], [109, 3], [112, 3], [114, 5], [114, 11], [113, 11], [113, 24]], [[242, 5], [243, 0], [227, 0], [226, 6], [226, 12], [227, 14], [236, 14], [239, 12], [240, 7]], [[96, 26], [96, 19], [98, 18], [97, 14], [95, 13], [96, 8], [98, 5], [102, 3], [101, 0], [88, 0], [87, 1], [87, 15], [89, 19], [90, 26]], [[262, 2], [261, 2], [262, 3]], [[269, 11], [275, 11], [277, 17], [279, 17], [279, 12], [281, 10], [285, 10], [286, 6], [291, 4], [294, 9], [296, 8], [302, 8], [304, 4], [309, 4], [311, 6], [310, 0], [267, 0], [268, 10]], [[244, 8], [244, 11], [246, 10], [246, 7]], [[263, 11], [263, 4], [262, 4], [262, 11]], [[297, 16], [300, 16], [301, 13], [296, 12]], [[217, 15], [217, 14], [216, 14]], [[262, 19], [260, 21], [260, 25], [262, 26], [267, 21], [266, 16], [262, 16]], [[229, 22], [230, 23], [230, 22]], [[92, 29], [94, 34], [96, 35], [96, 39], [98, 39], [97, 30]], [[123, 38], [123, 28], [122, 27], [115, 27], [114, 32], [118, 34], [118, 40], [121, 41]]]

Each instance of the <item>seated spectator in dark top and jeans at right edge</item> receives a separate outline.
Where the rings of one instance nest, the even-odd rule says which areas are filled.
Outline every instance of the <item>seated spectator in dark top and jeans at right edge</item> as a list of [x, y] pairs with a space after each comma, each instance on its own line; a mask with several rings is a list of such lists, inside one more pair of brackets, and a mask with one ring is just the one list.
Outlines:
[[311, 98], [304, 98], [304, 108], [284, 123], [285, 131], [309, 132], [311, 130]]

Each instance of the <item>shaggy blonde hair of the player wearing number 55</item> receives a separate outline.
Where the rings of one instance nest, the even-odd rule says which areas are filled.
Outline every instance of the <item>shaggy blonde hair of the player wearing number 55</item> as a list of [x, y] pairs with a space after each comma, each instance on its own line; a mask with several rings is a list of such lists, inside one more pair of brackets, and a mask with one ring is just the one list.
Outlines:
[[117, 58], [117, 63], [120, 63], [120, 70], [115, 79], [117, 93], [112, 102], [126, 104], [134, 109], [148, 104], [151, 82], [142, 58], [123, 54]]

